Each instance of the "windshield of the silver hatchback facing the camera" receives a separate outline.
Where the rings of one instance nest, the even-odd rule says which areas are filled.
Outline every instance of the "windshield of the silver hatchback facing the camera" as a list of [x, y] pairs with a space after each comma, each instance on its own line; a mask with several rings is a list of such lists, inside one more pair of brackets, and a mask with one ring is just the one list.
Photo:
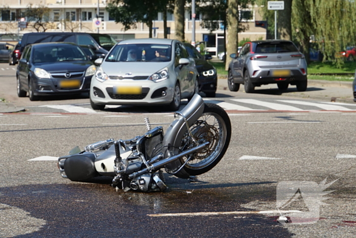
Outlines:
[[171, 46], [165, 44], [116, 45], [107, 56], [107, 62], [169, 62]]

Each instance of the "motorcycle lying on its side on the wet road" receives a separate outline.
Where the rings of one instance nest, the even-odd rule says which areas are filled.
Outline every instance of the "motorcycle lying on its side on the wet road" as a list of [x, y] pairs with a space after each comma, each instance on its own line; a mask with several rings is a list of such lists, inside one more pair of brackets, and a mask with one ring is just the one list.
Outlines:
[[97, 176], [111, 176], [112, 186], [124, 191], [164, 191], [163, 171], [190, 178], [214, 168], [224, 156], [231, 137], [227, 113], [216, 104], [204, 103], [195, 94], [186, 107], [174, 113], [166, 133], [163, 127], [129, 140], [108, 139], [75, 147], [58, 158], [62, 177], [85, 182]]

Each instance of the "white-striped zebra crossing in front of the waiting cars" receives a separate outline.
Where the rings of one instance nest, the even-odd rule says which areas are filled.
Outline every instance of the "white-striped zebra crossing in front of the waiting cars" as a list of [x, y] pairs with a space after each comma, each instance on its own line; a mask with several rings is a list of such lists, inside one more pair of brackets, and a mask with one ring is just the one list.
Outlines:
[[[280, 99], [250, 99], [250, 98], [204, 98], [205, 102], [215, 103], [224, 110], [234, 112], [356, 112], [356, 103], [306, 101], [306, 100], [280, 100]], [[187, 101], [182, 101], [182, 110]], [[107, 105], [104, 111], [95, 111], [90, 103], [80, 104], [50, 104], [41, 105], [38, 108], [52, 109], [54, 112], [64, 113], [160, 113], [152, 112], [145, 107], [130, 107], [123, 105]], [[167, 112], [162, 112], [167, 113]]]

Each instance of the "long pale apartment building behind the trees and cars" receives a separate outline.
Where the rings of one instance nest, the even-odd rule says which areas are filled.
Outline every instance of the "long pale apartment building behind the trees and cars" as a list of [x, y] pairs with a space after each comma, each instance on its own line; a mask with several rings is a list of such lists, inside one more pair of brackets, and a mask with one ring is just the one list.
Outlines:
[[[0, 21], [0, 41], [17, 41], [21, 35], [28, 32], [36, 32], [34, 28], [18, 28], [18, 18], [31, 22], [32, 19], [25, 16], [25, 9], [32, 5], [45, 6], [50, 9], [49, 29], [46, 32], [93, 32], [109, 34], [115, 40], [121, 41], [131, 38], [149, 37], [149, 27], [144, 23], [137, 23], [136, 28], [124, 31], [123, 25], [116, 23], [105, 10], [107, 0], [0, 0], [2, 1], [2, 14]], [[99, 12], [99, 14], [98, 14]], [[261, 20], [258, 6], [250, 6], [247, 9], [240, 9], [240, 20], [246, 27], [246, 31], [239, 33], [239, 40], [249, 38], [251, 40], [265, 39], [266, 30], [255, 27], [255, 21]], [[101, 18], [99, 27], [93, 21], [96, 16]], [[212, 55], [223, 51], [224, 26], [222, 22], [216, 22], [219, 28], [210, 32], [201, 20], [202, 15], [197, 13], [195, 20], [195, 42], [206, 44], [207, 51]], [[185, 13], [185, 40], [192, 39], [192, 18], [191, 12]], [[163, 38], [163, 14], [159, 13], [153, 22], [154, 37]], [[174, 38], [174, 16], [167, 13], [167, 27], [170, 28], [168, 38]], [[206, 42], [206, 43], [205, 43]]]

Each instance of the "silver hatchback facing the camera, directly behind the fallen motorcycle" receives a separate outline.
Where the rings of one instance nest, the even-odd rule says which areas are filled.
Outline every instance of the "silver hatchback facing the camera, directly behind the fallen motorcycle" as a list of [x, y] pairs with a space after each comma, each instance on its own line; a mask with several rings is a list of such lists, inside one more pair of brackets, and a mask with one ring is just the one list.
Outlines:
[[92, 78], [92, 108], [105, 105], [169, 105], [198, 92], [198, 72], [182, 42], [171, 39], [130, 39], [117, 43]]

